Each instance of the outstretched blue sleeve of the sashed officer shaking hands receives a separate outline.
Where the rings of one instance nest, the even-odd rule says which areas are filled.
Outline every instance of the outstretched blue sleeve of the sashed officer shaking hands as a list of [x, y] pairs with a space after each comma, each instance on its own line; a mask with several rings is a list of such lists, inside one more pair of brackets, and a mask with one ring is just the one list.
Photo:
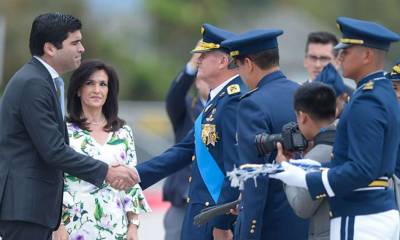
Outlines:
[[192, 163], [194, 154], [193, 129], [179, 143], [164, 153], [136, 166], [140, 176], [140, 186], [146, 189], [161, 179]]

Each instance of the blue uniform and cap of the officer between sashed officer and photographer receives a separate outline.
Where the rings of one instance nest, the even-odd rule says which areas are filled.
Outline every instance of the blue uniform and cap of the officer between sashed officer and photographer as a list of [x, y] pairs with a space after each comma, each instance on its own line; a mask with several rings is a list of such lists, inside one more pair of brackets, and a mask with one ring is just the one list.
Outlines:
[[[234, 57], [246, 56], [266, 49], [277, 48], [281, 30], [256, 30], [228, 39], [222, 43]], [[257, 134], [281, 133], [283, 125], [295, 121], [293, 96], [299, 85], [281, 71], [264, 76], [257, 87], [245, 94], [238, 108], [237, 138], [241, 163], [270, 163], [269, 156], [257, 153], [254, 139]], [[241, 211], [235, 239], [306, 239], [308, 221], [300, 219], [290, 207], [282, 183], [259, 177], [245, 182]], [[288, 230], [290, 229], [290, 230]]]

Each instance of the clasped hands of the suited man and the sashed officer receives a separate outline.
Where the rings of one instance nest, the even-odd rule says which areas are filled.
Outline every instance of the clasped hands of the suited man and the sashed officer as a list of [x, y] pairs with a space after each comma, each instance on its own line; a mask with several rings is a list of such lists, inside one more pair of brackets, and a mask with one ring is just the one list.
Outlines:
[[123, 164], [108, 166], [106, 182], [118, 190], [128, 190], [140, 182], [140, 177], [135, 168]]

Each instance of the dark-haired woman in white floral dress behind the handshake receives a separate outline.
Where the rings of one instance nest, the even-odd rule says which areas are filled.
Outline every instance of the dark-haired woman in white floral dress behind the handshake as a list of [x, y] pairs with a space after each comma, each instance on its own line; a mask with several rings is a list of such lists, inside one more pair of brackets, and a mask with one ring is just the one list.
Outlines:
[[[83, 62], [68, 89], [68, 133], [76, 151], [110, 165], [136, 165], [131, 128], [118, 117], [118, 77], [99, 60]], [[138, 214], [150, 208], [139, 185], [118, 191], [65, 174], [62, 225], [53, 239], [137, 239]]]

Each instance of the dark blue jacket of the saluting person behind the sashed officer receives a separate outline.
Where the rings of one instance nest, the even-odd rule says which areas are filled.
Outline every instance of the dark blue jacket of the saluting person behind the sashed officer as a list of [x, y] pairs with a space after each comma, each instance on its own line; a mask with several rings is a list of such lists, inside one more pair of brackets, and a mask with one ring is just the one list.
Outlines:
[[[193, 128], [194, 120], [203, 110], [200, 96], [188, 96], [195, 78], [196, 75], [188, 74], [186, 70], [180, 72], [172, 82], [165, 100], [168, 117], [174, 130], [175, 143], [182, 140], [188, 131]], [[163, 186], [164, 201], [171, 202], [175, 207], [186, 205], [190, 169], [191, 166], [189, 165], [166, 179]]]

